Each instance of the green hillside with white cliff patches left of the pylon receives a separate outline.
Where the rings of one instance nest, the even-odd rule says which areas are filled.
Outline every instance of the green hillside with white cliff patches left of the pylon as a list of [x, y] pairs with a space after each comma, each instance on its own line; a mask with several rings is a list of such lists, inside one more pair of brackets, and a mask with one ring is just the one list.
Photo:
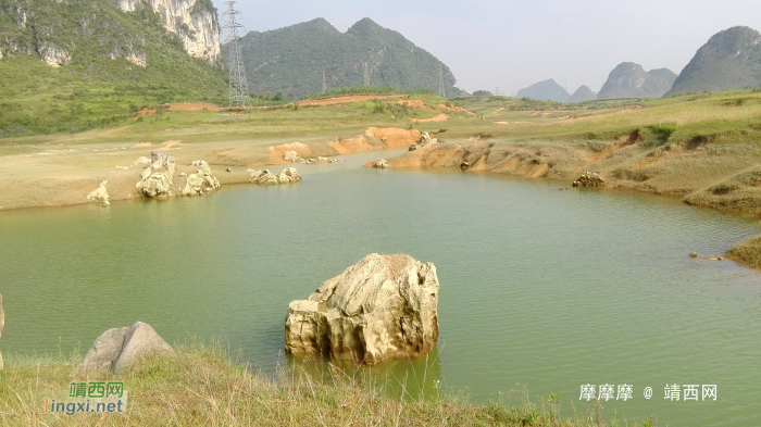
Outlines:
[[[0, 136], [111, 127], [146, 105], [226, 99], [225, 70], [188, 55], [149, 7], [0, 0]], [[47, 65], [50, 52], [64, 64]]]

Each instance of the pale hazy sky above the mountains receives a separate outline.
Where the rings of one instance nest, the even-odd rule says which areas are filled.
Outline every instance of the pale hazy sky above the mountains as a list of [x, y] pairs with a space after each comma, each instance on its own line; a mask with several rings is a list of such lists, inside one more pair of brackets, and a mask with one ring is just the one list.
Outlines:
[[[227, 5], [213, 0], [219, 12]], [[760, 0], [241, 0], [246, 30], [324, 17], [341, 32], [370, 17], [451, 68], [458, 86], [513, 95], [554, 78], [600, 89], [624, 61], [676, 74], [715, 33], [761, 29]], [[224, 23], [224, 18], [222, 20]]]

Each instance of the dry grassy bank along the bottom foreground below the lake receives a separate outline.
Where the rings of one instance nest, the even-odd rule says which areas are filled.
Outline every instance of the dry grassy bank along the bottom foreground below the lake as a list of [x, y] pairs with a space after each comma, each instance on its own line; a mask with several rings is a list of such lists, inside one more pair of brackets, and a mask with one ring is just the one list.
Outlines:
[[[145, 361], [117, 378], [129, 392], [127, 410], [112, 414], [39, 414], [43, 400], [66, 392], [78, 356], [7, 357], [0, 372], [0, 420], [3, 425], [257, 425], [257, 426], [552, 426], [616, 425], [599, 405], [562, 419], [557, 395], [516, 407], [482, 406], [440, 392], [389, 395], [362, 374], [337, 368], [328, 381], [300, 369], [283, 369], [270, 379], [234, 363], [215, 347], [183, 348], [170, 359]], [[67, 394], [64, 394], [67, 395]], [[650, 419], [629, 426], [651, 426]]]

